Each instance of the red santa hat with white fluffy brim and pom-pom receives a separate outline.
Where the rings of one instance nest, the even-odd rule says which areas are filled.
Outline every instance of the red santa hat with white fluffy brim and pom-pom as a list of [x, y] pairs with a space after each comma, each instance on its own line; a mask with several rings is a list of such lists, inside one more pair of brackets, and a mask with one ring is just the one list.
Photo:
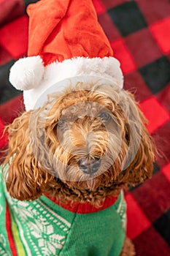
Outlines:
[[36, 105], [39, 96], [54, 84], [53, 91], [60, 91], [58, 82], [68, 78], [77, 83], [96, 76], [123, 87], [120, 63], [91, 0], [41, 0], [27, 12], [28, 57], [16, 61], [9, 75], [10, 83], [23, 91], [26, 110], [42, 106], [45, 99]]

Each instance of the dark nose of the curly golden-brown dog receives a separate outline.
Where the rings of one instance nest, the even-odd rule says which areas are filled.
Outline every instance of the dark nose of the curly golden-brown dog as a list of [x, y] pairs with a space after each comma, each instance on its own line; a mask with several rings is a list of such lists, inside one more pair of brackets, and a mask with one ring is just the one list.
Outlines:
[[98, 171], [98, 168], [101, 165], [101, 159], [95, 158], [82, 158], [79, 160], [78, 165], [80, 170], [86, 174], [93, 174]]

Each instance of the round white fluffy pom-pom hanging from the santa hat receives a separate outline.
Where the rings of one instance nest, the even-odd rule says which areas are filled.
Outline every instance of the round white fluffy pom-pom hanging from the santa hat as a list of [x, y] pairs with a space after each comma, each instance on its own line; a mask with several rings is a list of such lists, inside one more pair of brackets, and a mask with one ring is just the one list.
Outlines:
[[40, 56], [19, 59], [10, 69], [9, 82], [16, 89], [25, 91], [39, 86], [45, 67]]

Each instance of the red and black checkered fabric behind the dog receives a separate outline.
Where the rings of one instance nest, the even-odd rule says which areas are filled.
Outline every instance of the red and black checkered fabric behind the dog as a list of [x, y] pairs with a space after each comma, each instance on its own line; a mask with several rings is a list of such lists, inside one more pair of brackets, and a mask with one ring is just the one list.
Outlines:
[[[9, 68], [26, 56], [26, 6], [36, 1], [0, 0], [0, 130], [23, 111], [22, 94], [8, 82]], [[153, 177], [130, 189], [128, 236], [139, 256], [170, 255], [170, 4], [169, 0], [93, 0], [115, 57], [158, 147]], [[4, 123], [4, 124], [3, 124]], [[0, 134], [1, 135], [1, 134]], [[0, 147], [7, 144], [1, 138]], [[96, 231], [97, 232], [97, 231]]]

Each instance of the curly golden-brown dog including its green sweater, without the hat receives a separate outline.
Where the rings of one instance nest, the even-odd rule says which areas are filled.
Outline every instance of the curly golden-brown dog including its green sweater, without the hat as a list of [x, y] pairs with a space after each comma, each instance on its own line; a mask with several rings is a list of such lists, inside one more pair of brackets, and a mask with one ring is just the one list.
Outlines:
[[146, 123], [129, 91], [77, 83], [9, 124], [1, 255], [135, 255], [123, 189], [152, 176]]

